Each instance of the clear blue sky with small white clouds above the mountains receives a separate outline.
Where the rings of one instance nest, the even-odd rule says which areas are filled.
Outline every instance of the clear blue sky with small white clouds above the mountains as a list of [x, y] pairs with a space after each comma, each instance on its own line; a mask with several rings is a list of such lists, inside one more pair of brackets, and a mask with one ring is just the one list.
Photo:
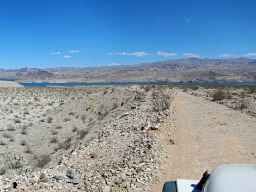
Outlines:
[[254, 0], [8, 0], [0, 2], [0, 68], [256, 59], [255, 34]]

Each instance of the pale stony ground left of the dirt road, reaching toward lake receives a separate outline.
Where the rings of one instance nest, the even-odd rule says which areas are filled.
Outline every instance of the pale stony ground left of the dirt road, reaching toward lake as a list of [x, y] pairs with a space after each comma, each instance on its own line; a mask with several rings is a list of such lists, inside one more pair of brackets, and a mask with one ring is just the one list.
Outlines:
[[[16, 98], [4, 95], [8, 91], [13, 92]], [[156, 112], [151, 91], [145, 92], [139, 86], [124, 86], [9, 88], [2, 89], [2, 93], [2, 102], [5, 102], [1, 105], [2, 124], [5, 125], [3, 127], [13, 128], [3, 128], [2, 131], [11, 133], [15, 139], [7, 140], [3, 134], [1, 152], [10, 154], [15, 166], [23, 165], [14, 169], [5, 163], [8, 167], [1, 176], [2, 190], [148, 191], [151, 185], [159, 181], [158, 152], [162, 146], [151, 130], [160, 129], [161, 122], [172, 116], [173, 112]], [[35, 95], [38, 96], [36, 101]], [[29, 101], [33, 103], [27, 106]], [[49, 102], [52, 103], [50, 107]], [[15, 107], [14, 103], [20, 107]], [[8, 110], [5, 109], [7, 106]], [[10, 110], [13, 112], [10, 113]], [[23, 113], [24, 110], [29, 113]], [[21, 122], [15, 122], [15, 114], [20, 114], [18, 119]], [[49, 117], [52, 117], [51, 122], [47, 121]], [[28, 128], [30, 122], [33, 122], [33, 126]], [[22, 134], [22, 130], [27, 133]], [[84, 138], [79, 134], [82, 130], [87, 131]], [[53, 134], [54, 131], [57, 133]], [[65, 139], [68, 135], [71, 136], [69, 140]], [[56, 137], [54, 142], [51, 140], [53, 137]], [[21, 138], [25, 138], [25, 145], [31, 146], [31, 152], [22, 150], [26, 146], [21, 145]], [[69, 142], [69, 147], [66, 147]], [[56, 150], [58, 146], [62, 147]], [[14, 151], [26, 160], [21, 162], [12, 158]], [[3, 162], [5, 160], [2, 158]], [[33, 165], [41, 162], [41, 167], [45, 166], [45, 169], [32, 166], [32, 162], [35, 162]], [[14, 182], [17, 189], [13, 189]]]

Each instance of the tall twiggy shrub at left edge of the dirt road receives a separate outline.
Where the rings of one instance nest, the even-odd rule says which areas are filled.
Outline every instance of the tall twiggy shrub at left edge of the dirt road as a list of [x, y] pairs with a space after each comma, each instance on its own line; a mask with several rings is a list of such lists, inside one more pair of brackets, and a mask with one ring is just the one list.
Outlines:
[[170, 108], [170, 103], [174, 100], [177, 92], [175, 90], [155, 90], [152, 93], [153, 96], [153, 109], [156, 112], [160, 112]]

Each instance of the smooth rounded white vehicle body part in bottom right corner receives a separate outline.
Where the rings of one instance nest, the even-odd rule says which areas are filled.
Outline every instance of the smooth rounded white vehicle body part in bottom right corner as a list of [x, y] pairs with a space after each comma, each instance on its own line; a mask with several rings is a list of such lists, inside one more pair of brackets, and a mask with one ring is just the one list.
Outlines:
[[204, 192], [255, 192], [256, 164], [220, 165], [212, 170]]

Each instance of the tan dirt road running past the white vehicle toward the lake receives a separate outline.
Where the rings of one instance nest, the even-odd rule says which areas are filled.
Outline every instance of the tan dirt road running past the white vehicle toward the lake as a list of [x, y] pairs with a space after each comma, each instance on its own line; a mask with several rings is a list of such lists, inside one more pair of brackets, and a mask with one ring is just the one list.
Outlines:
[[185, 92], [178, 93], [172, 106], [177, 130], [169, 136], [157, 133], [165, 144], [164, 163], [153, 191], [176, 178], [200, 179], [205, 170], [220, 164], [256, 164], [256, 117]]

